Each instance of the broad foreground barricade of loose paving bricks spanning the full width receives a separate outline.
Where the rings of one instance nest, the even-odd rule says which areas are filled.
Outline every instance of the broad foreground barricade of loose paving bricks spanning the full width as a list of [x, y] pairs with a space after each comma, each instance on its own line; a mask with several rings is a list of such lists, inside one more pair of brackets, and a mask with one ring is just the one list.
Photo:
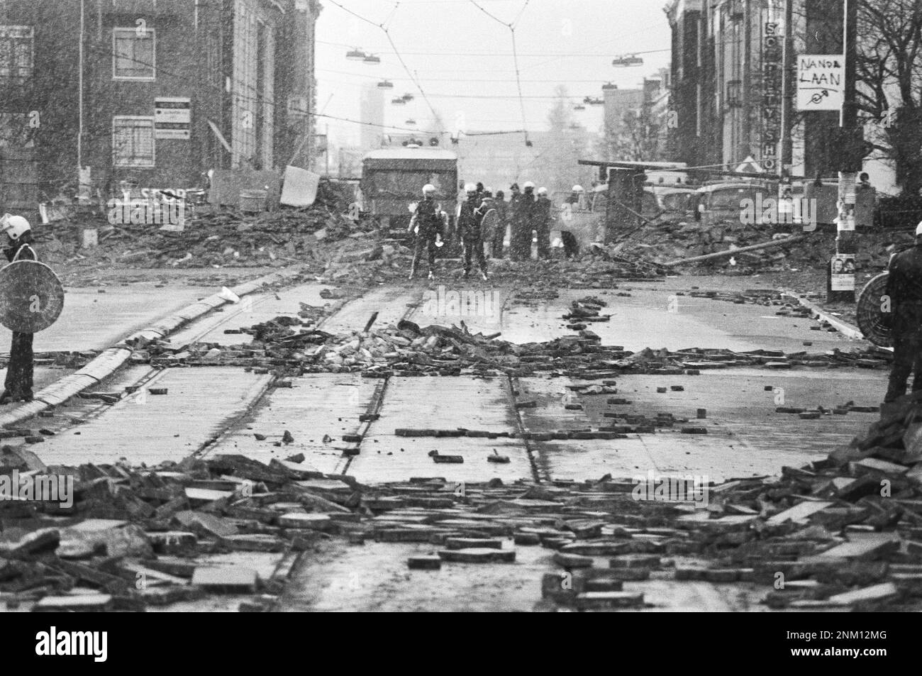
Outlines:
[[71, 507], [0, 501], [0, 600], [33, 611], [143, 611], [231, 594], [245, 597], [241, 611], [266, 611], [290, 565], [264, 578], [205, 557], [311, 556], [327, 540], [377, 540], [431, 546], [407, 561], [420, 575], [515, 565], [518, 548], [543, 547], [536, 610], [641, 609], [647, 580], [747, 584], [773, 609], [922, 603], [922, 396], [888, 405], [867, 433], [808, 466], [698, 487], [705, 501], [638, 499], [639, 480], [610, 475], [368, 486], [302, 459], [45, 468], [6, 446], [0, 474], [41, 469], [76, 486]]

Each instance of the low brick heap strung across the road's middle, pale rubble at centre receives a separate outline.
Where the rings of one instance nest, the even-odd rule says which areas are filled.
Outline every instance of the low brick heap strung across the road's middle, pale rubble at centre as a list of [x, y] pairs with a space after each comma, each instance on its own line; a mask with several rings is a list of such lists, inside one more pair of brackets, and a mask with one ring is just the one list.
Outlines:
[[[584, 301], [579, 307], [592, 307]], [[588, 312], [592, 312], [591, 310]], [[254, 340], [243, 345], [195, 343], [173, 346], [168, 340], [137, 344], [134, 362], [170, 366], [242, 366], [255, 373], [277, 374], [361, 372], [388, 375], [563, 374], [602, 380], [618, 374], [698, 374], [703, 369], [762, 366], [887, 368], [889, 355], [852, 349], [786, 354], [781, 350], [652, 350], [637, 352], [601, 344], [597, 334], [579, 329], [573, 336], [540, 343], [515, 344], [497, 335], [472, 334], [462, 324], [420, 327], [407, 320], [378, 330], [333, 336], [313, 328], [310, 319], [279, 316], [271, 322], [228, 329]]]

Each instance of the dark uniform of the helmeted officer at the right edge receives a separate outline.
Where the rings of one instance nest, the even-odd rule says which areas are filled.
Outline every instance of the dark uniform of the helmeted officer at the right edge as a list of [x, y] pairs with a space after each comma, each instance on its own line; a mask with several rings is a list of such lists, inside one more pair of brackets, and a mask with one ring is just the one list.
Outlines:
[[913, 392], [922, 390], [922, 243], [894, 255], [888, 269], [893, 366], [885, 402], [906, 394], [906, 380], [913, 371], [916, 372]]

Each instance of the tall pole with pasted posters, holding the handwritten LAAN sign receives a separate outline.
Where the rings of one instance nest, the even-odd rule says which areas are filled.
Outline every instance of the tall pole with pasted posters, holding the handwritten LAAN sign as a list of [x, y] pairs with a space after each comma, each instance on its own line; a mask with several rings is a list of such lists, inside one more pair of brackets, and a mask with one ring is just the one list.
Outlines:
[[829, 291], [827, 299], [835, 302], [855, 302], [855, 273], [847, 272], [851, 256], [854, 270], [854, 256], [857, 253], [855, 234], [855, 202], [857, 174], [861, 171], [861, 146], [863, 136], [857, 125], [857, 3], [858, 0], [843, 0], [842, 44], [845, 61], [845, 90], [842, 110], [839, 114], [840, 143], [839, 160], [839, 218], [835, 238], [835, 256], [830, 263]]

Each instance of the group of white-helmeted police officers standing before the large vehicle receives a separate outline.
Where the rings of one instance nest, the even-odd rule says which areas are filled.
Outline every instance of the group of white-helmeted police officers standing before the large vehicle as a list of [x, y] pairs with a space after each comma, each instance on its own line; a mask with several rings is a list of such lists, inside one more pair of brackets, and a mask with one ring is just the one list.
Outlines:
[[[524, 190], [518, 184], [510, 187], [511, 197], [506, 201], [502, 190], [493, 195], [483, 184], [465, 184], [465, 199], [455, 214], [455, 237], [463, 247], [464, 277], [470, 276], [474, 258], [477, 259], [481, 279], [487, 277], [487, 255], [484, 245], [493, 258], [502, 258], [502, 245], [506, 230], [510, 232], [509, 257], [514, 261], [531, 258], [533, 233], [538, 238], [538, 258], [550, 258], [550, 224], [554, 219], [547, 188], [538, 188], [526, 181]], [[422, 187], [422, 200], [413, 210], [408, 231], [416, 235], [413, 263], [409, 279], [416, 275], [423, 250], [429, 261], [429, 279], [435, 277], [435, 254], [443, 246], [443, 233], [447, 228], [447, 214], [435, 201], [435, 186]]]

